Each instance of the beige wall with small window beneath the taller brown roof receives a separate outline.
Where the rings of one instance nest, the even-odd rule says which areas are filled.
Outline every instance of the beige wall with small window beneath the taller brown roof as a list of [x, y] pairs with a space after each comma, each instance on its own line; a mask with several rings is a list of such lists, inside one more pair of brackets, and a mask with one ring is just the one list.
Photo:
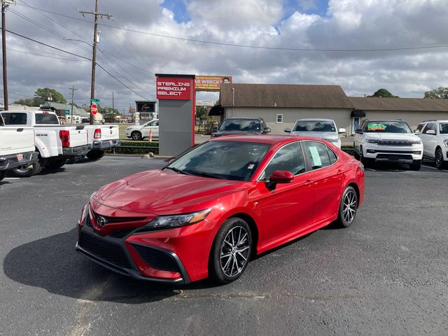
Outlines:
[[[255, 117], [263, 118], [270, 127], [272, 134], [286, 134], [286, 127], [292, 128], [295, 120], [299, 118], [328, 118], [335, 120], [337, 128], [345, 128], [351, 132], [351, 110], [346, 109], [282, 109], [282, 108], [248, 108], [231, 107], [225, 108], [225, 118], [229, 117]], [[276, 115], [283, 114], [283, 123], [276, 123]]]

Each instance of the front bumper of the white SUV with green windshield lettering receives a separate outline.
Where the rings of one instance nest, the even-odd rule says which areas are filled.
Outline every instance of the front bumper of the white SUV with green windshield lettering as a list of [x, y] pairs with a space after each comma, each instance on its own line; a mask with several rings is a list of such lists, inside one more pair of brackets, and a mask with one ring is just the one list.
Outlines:
[[423, 157], [423, 145], [414, 146], [379, 146], [363, 144], [363, 156], [375, 162], [412, 163]]

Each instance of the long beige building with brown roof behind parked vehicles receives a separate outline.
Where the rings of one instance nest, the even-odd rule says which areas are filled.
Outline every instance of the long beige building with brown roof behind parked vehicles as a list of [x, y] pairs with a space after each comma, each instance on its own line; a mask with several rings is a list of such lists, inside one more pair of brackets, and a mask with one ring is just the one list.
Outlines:
[[402, 119], [414, 130], [423, 120], [447, 120], [448, 99], [347, 97], [339, 85], [221, 85], [211, 116], [260, 117], [272, 134], [285, 134], [299, 118], [330, 118], [353, 134], [367, 119]]

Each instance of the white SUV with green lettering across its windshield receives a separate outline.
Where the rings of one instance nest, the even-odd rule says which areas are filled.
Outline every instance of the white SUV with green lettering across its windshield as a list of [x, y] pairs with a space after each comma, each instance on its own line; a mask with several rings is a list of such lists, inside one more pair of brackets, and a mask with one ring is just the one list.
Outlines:
[[356, 158], [364, 165], [371, 162], [407, 163], [419, 170], [423, 144], [402, 120], [364, 120], [355, 131]]

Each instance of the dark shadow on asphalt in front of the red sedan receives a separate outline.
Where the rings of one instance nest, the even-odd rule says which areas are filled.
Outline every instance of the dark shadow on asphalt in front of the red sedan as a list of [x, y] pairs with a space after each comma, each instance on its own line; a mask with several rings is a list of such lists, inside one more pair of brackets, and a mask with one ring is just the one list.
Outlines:
[[122, 276], [87, 260], [75, 251], [76, 228], [13, 248], [3, 260], [8, 278], [49, 293], [80, 300], [139, 304], [181, 295], [185, 289], [211, 286], [208, 281], [190, 285], [162, 285]]

